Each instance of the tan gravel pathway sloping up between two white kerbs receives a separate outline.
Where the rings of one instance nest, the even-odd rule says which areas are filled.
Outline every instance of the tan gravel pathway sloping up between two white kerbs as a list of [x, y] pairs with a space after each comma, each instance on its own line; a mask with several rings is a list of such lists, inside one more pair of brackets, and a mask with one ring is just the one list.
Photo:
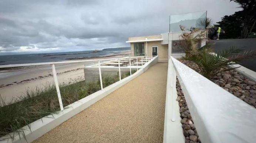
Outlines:
[[159, 62], [34, 142], [162, 142], [167, 68]]

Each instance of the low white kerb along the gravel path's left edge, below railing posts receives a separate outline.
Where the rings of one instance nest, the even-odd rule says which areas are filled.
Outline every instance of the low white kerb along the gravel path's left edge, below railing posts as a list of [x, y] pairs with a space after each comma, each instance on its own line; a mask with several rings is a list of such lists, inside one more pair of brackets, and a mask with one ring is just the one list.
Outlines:
[[[56, 126], [63, 123], [64, 121], [67, 121], [69, 118], [78, 114], [85, 108], [91, 106], [92, 104], [96, 103], [97, 101], [99, 101], [103, 97], [107, 96], [111, 92], [115, 91], [119, 87], [125, 85], [132, 79], [141, 75], [143, 72], [144, 72], [144, 69], [141, 68], [137, 72], [132, 74], [131, 76], [128, 76], [128, 77], [122, 79], [121, 81], [118, 81], [108, 87], [105, 87], [103, 90], [99, 90], [98, 92], [95, 92], [81, 100], [78, 100], [78, 101], [70, 104], [69, 106], [67, 106], [67, 108], [65, 107], [65, 109], [63, 111], [60, 111], [57, 114], [48, 115], [46, 117], [38, 119], [35, 122], [32, 122], [30, 124], [31, 131], [28, 126], [24, 126], [23, 129], [25, 129], [24, 134], [26, 136], [27, 141], [26, 141], [26, 139], [24, 139], [24, 137], [22, 135], [20, 138], [17, 135], [17, 133], [14, 133], [14, 140], [6, 139], [6, 138], [9, 138], [8, 135], [6, 135], [6, 136], [0, 138], [0, 140], [6, 139], [3, 141], [0, 141], [0, 143], [27, 143], [27, 142], [30, 143], [30, 142], [33, 142], [38, 137], [44, 135], [51, 129], [53, 129]], [[13, 133], [10, 133], [9, 135], [13, 136]]]

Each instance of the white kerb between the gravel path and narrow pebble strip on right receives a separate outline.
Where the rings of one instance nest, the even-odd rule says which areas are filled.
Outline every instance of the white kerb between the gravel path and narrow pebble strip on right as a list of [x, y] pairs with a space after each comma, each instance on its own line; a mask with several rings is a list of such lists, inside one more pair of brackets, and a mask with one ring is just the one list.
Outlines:
[[[179, 102], [175, 99], [178, 97], [175, 92], [175, 97], [172, 98], [171, 76], [172, 76], [172, 61], [168, 62], [167, 85], [166, 85], [166, 99], [165, 99], [165, 121], [164, 121], [164, 140], [163, 143], [185, 143], [183, 129], [181, 124], [181, 117], [179, 113]], [[175, 77], [176, 79], [176, 77]], [[176, 86], [174, 87], [176, 91]], [[172, 101], [174, 100], [174, 102]], [[174, 106], [172, 106], [174, 103]], [[172, 121], [172, 111], [174, 111], [174, 119]]]

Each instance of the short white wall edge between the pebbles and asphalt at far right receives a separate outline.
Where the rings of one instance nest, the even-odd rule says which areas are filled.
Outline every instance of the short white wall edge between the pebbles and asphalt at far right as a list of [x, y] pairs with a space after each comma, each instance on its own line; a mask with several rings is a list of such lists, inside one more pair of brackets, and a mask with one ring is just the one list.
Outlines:
[[229, 65], [231, 68], [236, 68], [235, 70], [243, 74], [246, 78], [250, 79], [251, 81], [256, 82], [256, 72], [252, 71], [246, 67], [243, 67], [242, 65], [235, 64], [235, 65]]

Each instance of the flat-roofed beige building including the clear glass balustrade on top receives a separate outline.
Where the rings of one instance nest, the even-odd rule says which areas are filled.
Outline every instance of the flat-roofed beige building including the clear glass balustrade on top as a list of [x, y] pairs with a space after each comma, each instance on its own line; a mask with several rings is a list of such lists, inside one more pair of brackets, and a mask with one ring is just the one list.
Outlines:
[[[194, 29], [205, 31], [206, 15], [207, 11], [170, 15], [169, 33], [129, 37], [127, 43], [131, 43], [131, 56], [158, 55], [159, 61], [167, 61], [168, 56], [174, 58], [184, 56], [187, 44], [181, 39], [180, 35]], [[183, 32], [180, 26], [183, 26]], [[205, 39], [197, 43], [198, 48], [204, 45]]]

